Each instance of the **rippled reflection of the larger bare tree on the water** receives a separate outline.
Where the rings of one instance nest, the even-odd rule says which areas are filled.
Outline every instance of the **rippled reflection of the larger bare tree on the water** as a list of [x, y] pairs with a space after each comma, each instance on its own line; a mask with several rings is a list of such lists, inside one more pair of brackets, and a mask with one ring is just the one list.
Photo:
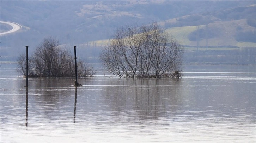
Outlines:
[[116, 115], [126, 113], [142, 119], [168, 116], [181, 104], [181, 85], [170, 79], [123, 79], [105, 90], [105, 103]]

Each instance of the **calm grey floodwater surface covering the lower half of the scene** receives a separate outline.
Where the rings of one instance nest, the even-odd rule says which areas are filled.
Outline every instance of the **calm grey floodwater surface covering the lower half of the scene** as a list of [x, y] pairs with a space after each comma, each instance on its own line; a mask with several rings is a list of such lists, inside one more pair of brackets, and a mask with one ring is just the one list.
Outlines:
[[256, 141], [256, 67], [185, 66], [182, 79], [18, 77], [1, 64], [0, 142]]

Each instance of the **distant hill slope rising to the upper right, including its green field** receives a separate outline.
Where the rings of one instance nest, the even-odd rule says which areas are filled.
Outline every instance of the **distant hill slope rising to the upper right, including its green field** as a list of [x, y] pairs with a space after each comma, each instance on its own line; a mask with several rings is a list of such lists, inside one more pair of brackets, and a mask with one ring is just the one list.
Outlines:
[[255, 15], [256, 5], [251, 5], [209, 14], [186, 15], [159, 23], [183, 45], [256, 47]]

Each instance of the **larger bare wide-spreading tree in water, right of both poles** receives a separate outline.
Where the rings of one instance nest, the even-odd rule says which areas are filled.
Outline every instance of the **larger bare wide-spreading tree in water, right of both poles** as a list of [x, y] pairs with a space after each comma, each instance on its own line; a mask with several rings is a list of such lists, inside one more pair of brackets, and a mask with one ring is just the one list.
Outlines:
[[176, 77], [182, 57], [182, 46], [156, 22], [118, 28], [100, 55], [105, 70], [120, 78]]

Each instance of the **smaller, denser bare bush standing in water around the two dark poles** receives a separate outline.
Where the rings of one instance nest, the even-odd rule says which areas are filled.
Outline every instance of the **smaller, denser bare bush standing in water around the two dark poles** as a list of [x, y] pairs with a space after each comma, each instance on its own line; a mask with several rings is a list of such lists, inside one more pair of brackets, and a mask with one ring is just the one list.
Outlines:
[[[51, 37], [44, 39], [33, 54], [29, 60], [29, 76], [75, 77], [74, 58], [70, 51], [60, 47], [58, 40]], [[25, 55], [20, 55], [17, 61], [17, 71], [26, 76]], [[78, 74], [79, 77], [89, 77], [95, 74], [92, 66], [84, 61], [78, 63], [78, 72], [84, 73]]]

